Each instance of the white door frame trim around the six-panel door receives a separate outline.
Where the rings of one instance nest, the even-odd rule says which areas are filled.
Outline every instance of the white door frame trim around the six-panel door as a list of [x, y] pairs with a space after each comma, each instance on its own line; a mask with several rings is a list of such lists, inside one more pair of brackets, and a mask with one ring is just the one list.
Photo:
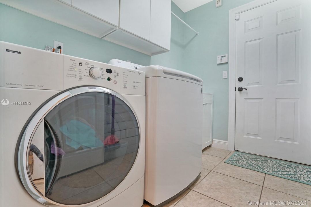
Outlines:
[[255, 0], [229, 10], [229, 123], [228, 150], [234, 151], [235, 142], [235, 84], [236, 84], [236, 20], [235, 17], [244, 11], [260, 7], [277, 0]]

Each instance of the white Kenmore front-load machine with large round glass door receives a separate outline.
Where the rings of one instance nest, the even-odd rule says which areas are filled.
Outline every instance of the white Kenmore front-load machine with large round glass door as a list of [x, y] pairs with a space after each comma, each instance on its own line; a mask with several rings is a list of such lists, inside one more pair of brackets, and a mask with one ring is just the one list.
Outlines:
[[0, 206], [142, 206], [145, 73], [5, 42], [0, 63]]

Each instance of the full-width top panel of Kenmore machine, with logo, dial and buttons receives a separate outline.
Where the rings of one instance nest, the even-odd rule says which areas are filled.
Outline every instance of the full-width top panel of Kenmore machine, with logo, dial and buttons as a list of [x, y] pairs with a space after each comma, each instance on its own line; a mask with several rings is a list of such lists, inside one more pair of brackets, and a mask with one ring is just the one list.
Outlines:
[[145, 73], [0, 41], [0, 87], [63, 91], [94, 85], [145, 95]]

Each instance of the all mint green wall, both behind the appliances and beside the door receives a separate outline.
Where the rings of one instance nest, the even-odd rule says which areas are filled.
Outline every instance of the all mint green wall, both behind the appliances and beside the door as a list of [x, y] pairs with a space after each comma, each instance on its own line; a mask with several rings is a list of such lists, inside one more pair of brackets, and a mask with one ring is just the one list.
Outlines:
[[223, 0], [223, 6], [216, 8], [214, 0], [186, 13], [172, 2], [172, 11], [200, 35], [196, 37], [172, 16], [171, 51], [152, 57], [3, 4], [0, 4], [0, 40], [39, 49], [53, 46], [57, 40], [64, 43], [67, 55], [100, 62], [113, 58], [131, 60], [197, 75], [203, 79], [203, 91], [214, 94], [213, 138], [228, 140], [228, 79], [222, 79], [222, 71], [229, 68], [228, 64], [217, 65], [216, 56], [229, 52], [229, 10], [251, 1]]

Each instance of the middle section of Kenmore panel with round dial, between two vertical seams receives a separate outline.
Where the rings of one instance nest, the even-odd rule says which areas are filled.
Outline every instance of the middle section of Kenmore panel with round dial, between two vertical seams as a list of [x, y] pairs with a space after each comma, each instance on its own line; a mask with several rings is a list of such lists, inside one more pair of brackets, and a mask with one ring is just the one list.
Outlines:
[[96, 85], [120, 92], [120, 67], [64, 55], [64, 88]]

